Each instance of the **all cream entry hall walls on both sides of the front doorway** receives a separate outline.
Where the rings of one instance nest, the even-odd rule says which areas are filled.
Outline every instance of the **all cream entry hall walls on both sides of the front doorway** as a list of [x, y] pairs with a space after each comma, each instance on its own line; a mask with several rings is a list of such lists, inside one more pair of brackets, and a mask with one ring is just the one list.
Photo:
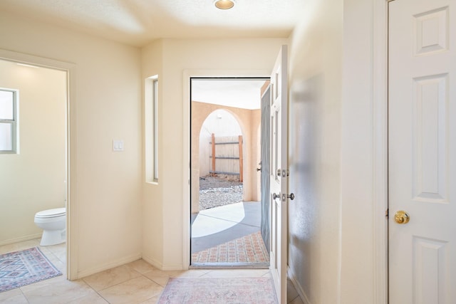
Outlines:
[[[307, 169], [304, 179], [290, 179], [296, 194], [289, 216], [291, 273], [309, 303], [375, 303], [372, 84], [380, 2], [308, 1], [290, 40], [162, 39], [141, 50], [0, 12], [0, 48], [76, 65], [71, 260], [78, 276], [141, 254], [160, 268], [188, 266], [190, 98], [184, 76], [268, 76], [279, 46], [289, 42], [291, 103], [312, 99], [301, 103], [304, 132], [290, 125], [290, 146], [301, 141], [309, 149], [290, 155], [292, 170]], [[142, 169], [141, 87], [150, 75], [160, 80], [155, 184], [145, 183]], [[111, 151], [114, 138], [125, 141], [125, 152]]]

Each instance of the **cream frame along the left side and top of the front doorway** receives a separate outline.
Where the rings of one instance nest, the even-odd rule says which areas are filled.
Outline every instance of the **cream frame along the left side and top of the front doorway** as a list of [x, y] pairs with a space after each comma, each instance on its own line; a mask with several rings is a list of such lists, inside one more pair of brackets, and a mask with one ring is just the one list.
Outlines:
[[182, 122], [183, 122], [183, 149], [182, 149], [182, 219], [183, 219], [183, 246], [182, 246], [182, 268], [187, 270], [190, 266], [190, 154], [192, 147], [190, 146], [190, 132], [191, 132], [191, 121], [190, 121], [190, 107], [191, 107], [191, 92], [190, 83], [192, 78], [269, 78], [271, 75], [270, 70], [228, 70], [228, 69], [195, 69], [195, 70], [184, 70], [183, 72], [183, 98], [182, 98]]

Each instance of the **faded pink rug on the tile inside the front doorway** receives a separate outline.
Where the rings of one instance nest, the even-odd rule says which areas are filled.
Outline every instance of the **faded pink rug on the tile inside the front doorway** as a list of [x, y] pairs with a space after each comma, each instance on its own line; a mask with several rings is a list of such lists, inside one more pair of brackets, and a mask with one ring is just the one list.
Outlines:
[[276, 304], [271, 278], [170, 278], [158, 304]]

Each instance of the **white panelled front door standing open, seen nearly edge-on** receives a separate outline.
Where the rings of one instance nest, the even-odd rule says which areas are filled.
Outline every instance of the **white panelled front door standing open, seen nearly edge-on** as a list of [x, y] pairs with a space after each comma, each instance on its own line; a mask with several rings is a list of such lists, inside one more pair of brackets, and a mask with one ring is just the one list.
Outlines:
[[279, 303], [286, 303], [288, 179], [287, 47], [281, 46], [271, 74], [271, 273]]

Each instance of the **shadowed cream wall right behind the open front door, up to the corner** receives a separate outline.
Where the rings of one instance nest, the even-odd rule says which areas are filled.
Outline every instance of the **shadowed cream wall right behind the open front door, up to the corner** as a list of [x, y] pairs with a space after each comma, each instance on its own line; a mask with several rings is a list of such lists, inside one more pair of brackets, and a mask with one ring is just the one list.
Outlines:
[[289, 267], [309, 303], [338, 303], [343, 3], [307, 6], [289, 51]]

